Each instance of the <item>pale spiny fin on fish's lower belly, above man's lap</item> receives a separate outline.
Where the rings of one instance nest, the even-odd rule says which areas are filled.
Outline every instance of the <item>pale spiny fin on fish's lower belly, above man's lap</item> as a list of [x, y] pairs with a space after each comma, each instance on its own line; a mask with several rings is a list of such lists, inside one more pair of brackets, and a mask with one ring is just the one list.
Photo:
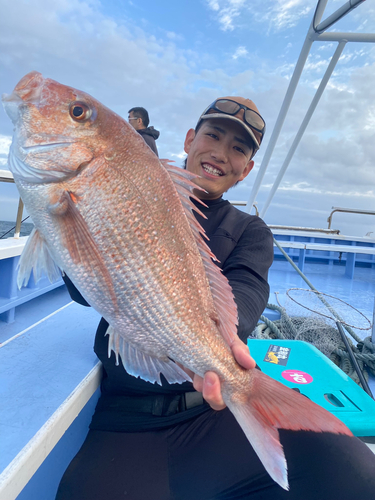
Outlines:
[[129, 375], [140, 377], [146, 382], [157, 382], [159, 385], [161, 385], [161, 373], [169, 384], [192, 382], [189, 375], [176, 363], [168, 358], [160, 359], [140, 351], [126, 342], [111, 326], [108, 327], [106, 335], [109, 335], [108, 357], [113, 351], [118, 365], [121, 356], [122, 364]]

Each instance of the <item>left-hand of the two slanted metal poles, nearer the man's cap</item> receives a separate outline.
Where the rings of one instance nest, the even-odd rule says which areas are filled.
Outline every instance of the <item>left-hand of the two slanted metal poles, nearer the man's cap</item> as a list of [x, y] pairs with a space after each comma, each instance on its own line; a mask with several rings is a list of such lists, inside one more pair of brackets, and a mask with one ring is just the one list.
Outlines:
[[[322, 0], [322, 2], [319, 3], [319, 8], [318, 8], [317, 15], [316, 15], [316, 21], [317, 22], [320, 22], [320, 19], [321, 19], [322, 15], [323, 15], [324, 9], [325, 9], [325, 7], [327, 5], [327, 2], [328, 2], [328, 0]], [[269, 143], [267, 145], [267, 149], [266, 149], [266, 151], [264, 153], [264, 157], [263, 157], [262, 163], [261, 163], [261, 165], [259, 167], [258, 175], [257, 175], [257, 177], [255, 179], [254, 184], [253, 184], [253, 188], [252, 188], [252, 191], [251, 191], [251, 194], [250, 194], [250, 198], [249, 198], [249, 200], [247, 202], [247, 205], [246, 205], [246, 208], [245, 208], [245, 211], [248, 212], [248, 213], [250, 213], [251, 207], [253, 206], [253, 203], [255, 202], [255, 199], [256, 199], [256, 197], [258, 195], [260, 185], [262, 184], [263, 177], [264, 177], [264, 175], [266, 173], [266, 170], [267, 170], [269, 161], [271, 159], [273, 150], [275, 149], [275, 145], [276, 145], [277, 139], [278, 139], [278, 137], [280, 135], [280, 131], [281, 131], [281, 128], [282, 128], [282, 126], [284, 124], [284, 120], [285, 120], [286, 114], [287, 114], [287, 112], [289, 110], [290, 103], [291, 103], [291, 101], [293, 99], [294, 92], [295, 92], [295, 90], [297, 88], [299, 79], [301, 77], [303, 68], [305, 66], [307, 57], [309, 55], [309, 52], [310, 52], [310, 49], [311, 49], [311, 45], [313, 44], [314, 35], [315, 35], [315, 32], [314, 32], [314, 29], [313, 29], [313, 26], [312, 26], [312, 23], [311, 23], [309, 31], [308, 31], [308, 33], [306, 35], [305, 42], [304, 42], [304, 44], [302, 46], [302, 50], [301, 50], [301, 53], [299, 55], [296, 67], [294, 68], [293, 76], [292, 76], [292, 78], [290, 80], [288, 90], [287, 90], [287, 92], [285, 94], [284, 101], [283, 101], [283, 104], [282, 104], [280, 112], [279, 112], [279, 116], [277, 117], [277, 120], [276, 120], [276, 123], [275, 123], [275, 127], [274, 127], [274, 129], [272, 131], [272, 135], [271, 135], [270, 141], [269, 141]]]

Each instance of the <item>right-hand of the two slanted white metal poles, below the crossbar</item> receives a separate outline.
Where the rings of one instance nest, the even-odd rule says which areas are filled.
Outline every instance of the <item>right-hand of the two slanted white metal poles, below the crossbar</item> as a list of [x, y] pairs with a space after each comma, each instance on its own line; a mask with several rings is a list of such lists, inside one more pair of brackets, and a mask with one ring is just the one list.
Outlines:
[[344, 50], [345, 45], [346, 45], [345, 41], [340, 42], [337, 46], [335, 53], [332, 56], [332, 59], [328, 65], [328, 68], [327, 68], [327, 70], [322, 78], [322, 81], [320, 82], [318, 90], [316, 91], [315, 96], [314, 96], [313, 100], [311, 101], [311, 104], [310, 104], [309, 109], [307, 110], [306, 116], [305, 116], [305, 118], [304, 118], [298, 132], [297, 132], [296, 137], [294, 138], [293, 144], [292, 144], [292, 146], [291, 146], [291, 148], [290, 148], [290, 150], [289, 150], [289, 152], [284, 160], [284, 163], [279, 171], [279, 174], [274, 182], [274, 185], [272, 186], [272, 189], [268, 195], [267, 201], [261, 210], [261, 213], [260, 213], [261, 218], [263, 218], [265, 216], [265, 214], [268, 210], [268, 207], [270, 206], [272, 198], [274, 197], [275, 192], [276, 192], [277, 188], [279, 187], [280, 182], [282, 181], [284, 174], [285, 174], [285, 172], [286, 172], [286, 170], [291, 162], [291, 159], [293, 158], [293, 155], [294, 155], [294, 153], [295, 153], [295, 151], [296, 151], [296, 149], [297, 149], [297, 147], [302, 139], [302, 136], [305, 133], [306, 127], [311, 120], [311, 117], [312, 117], [312, 115], [313, 115], [313, 113], [314, 113], [314, 111], [315, 111], [315, 109], [320, 101], [320, 98], [322, 97], [324, 89], [326, 88], [327, 83], [328, 83], [329, 79], [331, 78], [333, 70], [336, 67], [337, 61], [339, 60], [341, 53]]

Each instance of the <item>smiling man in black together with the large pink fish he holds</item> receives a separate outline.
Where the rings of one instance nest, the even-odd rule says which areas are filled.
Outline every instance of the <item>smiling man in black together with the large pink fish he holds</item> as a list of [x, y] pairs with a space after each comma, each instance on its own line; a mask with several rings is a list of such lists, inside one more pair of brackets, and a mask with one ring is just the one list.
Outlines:
[[222, 195], [253, 167], [265, 131], [255, 104], [216, 99], [187, 133], [186, 170], [40, 73], [4, 104], [9, 164], [36, 227], [19, 282], [42, 253], [45, 271], [53, 259], [73, 299], [103, 316], [102, 395], [56, 499], [373, 498], [371, 451], [254, 369], [243, 342], [267, 302], [272, 235]]

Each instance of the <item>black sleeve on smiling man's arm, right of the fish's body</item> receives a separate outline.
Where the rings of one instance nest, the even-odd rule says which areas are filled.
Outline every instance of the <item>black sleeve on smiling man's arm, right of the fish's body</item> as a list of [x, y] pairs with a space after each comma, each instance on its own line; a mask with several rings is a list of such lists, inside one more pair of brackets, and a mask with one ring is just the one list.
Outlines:
[[238, 336], [246, 342], [269, 297], [268, 269], [273, 261], [273, 236], [266, 225], [244, 231], [223, 265], [238, 308]]

